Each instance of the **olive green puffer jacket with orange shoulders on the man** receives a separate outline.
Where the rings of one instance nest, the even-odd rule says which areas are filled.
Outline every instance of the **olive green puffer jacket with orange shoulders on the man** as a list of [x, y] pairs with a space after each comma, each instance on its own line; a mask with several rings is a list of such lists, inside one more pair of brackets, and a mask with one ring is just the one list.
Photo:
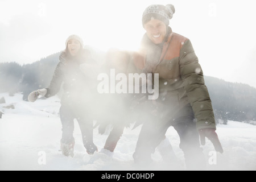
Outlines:
[[[150, 45], [143, 46], [141, 52], [134, 54], [135, 63], [142, 70], [150, 50]], [[164, 119], [173, 118], [177, 111], [191, 104], [197, 129], [216, 128], [203, 71], [188, 38], [170, 31], [152, 73], [159, 74], [159, 98], [156, 101]]]

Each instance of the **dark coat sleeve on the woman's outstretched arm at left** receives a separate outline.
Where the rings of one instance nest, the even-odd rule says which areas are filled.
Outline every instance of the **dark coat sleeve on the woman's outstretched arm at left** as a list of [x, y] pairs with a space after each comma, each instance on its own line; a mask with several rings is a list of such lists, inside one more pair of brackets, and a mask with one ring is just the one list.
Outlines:
[[52, 76], [52, 80], [48, 86], [47, 89], [47, 93], [45, 97], [52, 97], [55, 96], [55, 94], [57, 94], [60, 90], [60, 86], [63, 82], [63, 67], [64, 64], [59, 62], [59, 64], [57, 64], [57, 67], [55, 68], [55, 71], [53, 73]]

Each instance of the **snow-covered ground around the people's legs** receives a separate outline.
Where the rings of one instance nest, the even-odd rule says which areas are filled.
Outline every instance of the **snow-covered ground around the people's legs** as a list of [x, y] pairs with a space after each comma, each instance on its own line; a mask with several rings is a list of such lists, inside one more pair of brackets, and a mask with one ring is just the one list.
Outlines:
[[[22, 94], [5, 97], [6, 104], [15, 109], [2, 109], [0, 119], [0, 170], [184, 170], [183, 152], [179, 148], [179, 136], [173, 127], [167, 131], [176, 156], [177, 164], [162, 162], [159, 152], [152, 155], [154, 166], [138, 167], [133, 163], [133, 152], [140, 127], [126, 128], [112, 157], [100, 152], [88, 155], [82, 145], [80, 129], [75, 122], [75, 156], [65, 157], [60, 150], [61, 123], [59, 98], [38, 100], [34, 103], [22, 101]], [[217, 125], [224, 153], [214, 152], [207, 140], [203, 147], [208, 170], [255, 170], [256, 126], [229, 121], [228, 125]], [[107, 134], [98, 134], [94, 129], [94, 143], [98, 150], [104, 146]]]

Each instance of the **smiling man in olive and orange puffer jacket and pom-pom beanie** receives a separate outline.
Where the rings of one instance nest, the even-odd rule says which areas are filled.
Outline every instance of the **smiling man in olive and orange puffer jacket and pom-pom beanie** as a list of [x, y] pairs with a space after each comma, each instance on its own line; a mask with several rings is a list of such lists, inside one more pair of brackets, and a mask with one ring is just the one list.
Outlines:
[[142, 16], [146, 34], [141, 51], [134, 55], [134, 59], [141, 65], [143, 73], [159, 74], [159, 98], [152, 104], [155, 105], [154, 115], [159, 119], [143, 123], [133, 156], [135, 162], [148, 162], [168, 127], [174, 126], [187, 168], [200, 169], [205, 163], [199, 134], [201, 144], [207, 137], [216, 151], [223, 150], [215, 132], [216, 124], [203, 71], [192, 44], [169, 27], [174, 13], [173, 5], [151, 5]]

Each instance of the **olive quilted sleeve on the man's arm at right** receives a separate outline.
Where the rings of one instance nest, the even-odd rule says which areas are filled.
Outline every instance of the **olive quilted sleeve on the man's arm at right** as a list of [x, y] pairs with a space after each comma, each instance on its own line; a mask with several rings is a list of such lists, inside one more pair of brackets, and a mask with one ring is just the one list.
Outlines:
[[184, 88], [195, 114], [197, 129], [216, 129], [212, 101], [190, 40], [187, 40], [180, 49], [179, 67]]

